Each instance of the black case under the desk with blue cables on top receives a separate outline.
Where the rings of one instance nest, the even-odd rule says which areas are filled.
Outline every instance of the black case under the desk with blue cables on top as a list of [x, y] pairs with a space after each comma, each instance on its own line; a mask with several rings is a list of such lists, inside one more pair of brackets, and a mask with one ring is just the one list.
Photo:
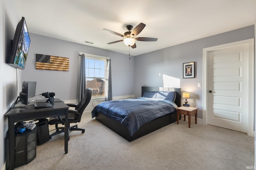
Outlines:
[[28, 164], [36, 158], [36, 128], [15, 137], [15, 167]]

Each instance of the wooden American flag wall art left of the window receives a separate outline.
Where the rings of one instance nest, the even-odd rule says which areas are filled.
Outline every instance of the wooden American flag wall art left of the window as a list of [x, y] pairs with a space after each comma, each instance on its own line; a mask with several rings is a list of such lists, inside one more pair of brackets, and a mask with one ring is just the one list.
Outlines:
[[36, 54], [36, 69], [69, 71], [69, 58]]

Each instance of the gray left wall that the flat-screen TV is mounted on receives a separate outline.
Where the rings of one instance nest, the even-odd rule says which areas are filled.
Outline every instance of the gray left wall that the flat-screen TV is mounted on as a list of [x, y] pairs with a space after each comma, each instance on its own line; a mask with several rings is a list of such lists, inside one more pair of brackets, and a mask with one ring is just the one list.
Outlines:
[[5, 61], [10, 54], [11, 39], [14, 37], [16, 25], [21, 18], [17, 17], [12, 0], [1, 0], [0, 11], [0, 169], [2, 170], [6, 161], [4, 140], [8, 130], [8, 120], [5, 114], [15, 102], [17, 91], [21, 90], [21, 70], [16, 70]]

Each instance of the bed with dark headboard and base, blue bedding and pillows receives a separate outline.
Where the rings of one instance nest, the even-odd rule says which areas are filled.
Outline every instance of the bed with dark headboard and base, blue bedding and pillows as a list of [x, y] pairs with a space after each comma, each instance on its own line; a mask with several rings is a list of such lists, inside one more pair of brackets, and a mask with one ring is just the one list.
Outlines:
[[180, 99], [180, 88], [142, 86], [141, 98], [103, 102], [92, 118], [131, 142], [177, 121]]

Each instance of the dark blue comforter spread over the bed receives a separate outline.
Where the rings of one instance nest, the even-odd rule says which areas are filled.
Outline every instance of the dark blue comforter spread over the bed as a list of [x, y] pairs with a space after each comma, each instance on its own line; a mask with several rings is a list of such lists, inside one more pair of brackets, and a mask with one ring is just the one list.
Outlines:
[[168, 113], [174, 113], [176, 108], [173, 102], [143, 97], [108, 101], [94, 107], [92, 118], [95, 117], [95, 113], [101, 113], [110, 119], [119, 121], [132, 136], [144, 123]]

